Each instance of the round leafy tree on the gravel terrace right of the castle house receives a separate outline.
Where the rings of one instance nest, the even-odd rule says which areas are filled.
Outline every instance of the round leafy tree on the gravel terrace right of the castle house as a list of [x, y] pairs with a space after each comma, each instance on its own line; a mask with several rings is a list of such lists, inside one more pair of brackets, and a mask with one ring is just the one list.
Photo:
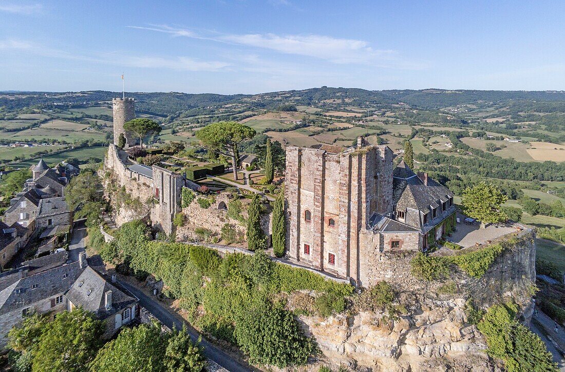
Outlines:
[[466, 215], [481, 221], [481, 227], [484, 227], [485, 224], [506, 220], [501, 205], [507, 199], [498, 187], [483, 181], [463, 191], [462, 204]]

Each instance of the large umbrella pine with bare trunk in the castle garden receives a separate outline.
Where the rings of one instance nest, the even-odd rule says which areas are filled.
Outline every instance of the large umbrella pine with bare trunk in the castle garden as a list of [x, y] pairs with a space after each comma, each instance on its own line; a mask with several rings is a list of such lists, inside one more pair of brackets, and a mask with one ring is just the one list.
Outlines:
[[216, 151], [232, 159], [233, 179], [237, 181], [237, 145], [244, 139], [253, 138], [255, 133], [255, 129], [236, 121], [220, 121], [198, 130], [196, 137], [208, 151]]

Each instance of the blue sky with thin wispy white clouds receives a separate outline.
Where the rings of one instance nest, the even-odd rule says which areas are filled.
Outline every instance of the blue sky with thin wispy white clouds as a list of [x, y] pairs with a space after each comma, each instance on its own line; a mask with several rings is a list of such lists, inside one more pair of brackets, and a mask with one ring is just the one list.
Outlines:
[[565, 89], [564, 1], [0, 0], [0, 90]]

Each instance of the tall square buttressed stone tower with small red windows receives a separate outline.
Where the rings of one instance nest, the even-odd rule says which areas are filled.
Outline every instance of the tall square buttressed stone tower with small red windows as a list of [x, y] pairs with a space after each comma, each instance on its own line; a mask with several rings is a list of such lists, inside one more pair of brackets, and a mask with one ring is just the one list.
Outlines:
[[362, 230], [392, 212], [393, 152], [387, 146], [286, 148], [286, 250], [291, 259], [357, 282]]

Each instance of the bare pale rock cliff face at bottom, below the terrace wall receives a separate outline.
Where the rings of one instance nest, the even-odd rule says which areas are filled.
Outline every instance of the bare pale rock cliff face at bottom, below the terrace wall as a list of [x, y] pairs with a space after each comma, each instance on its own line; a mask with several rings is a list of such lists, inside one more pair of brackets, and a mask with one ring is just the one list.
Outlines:
[[359, 312], [301, 321], [330, 365], [372, 371], [495, 370], [483, 336], [467, 323], [464, 305], [462, 298], [424, 298], [410, 315], [396, 320], [385, 312]]

